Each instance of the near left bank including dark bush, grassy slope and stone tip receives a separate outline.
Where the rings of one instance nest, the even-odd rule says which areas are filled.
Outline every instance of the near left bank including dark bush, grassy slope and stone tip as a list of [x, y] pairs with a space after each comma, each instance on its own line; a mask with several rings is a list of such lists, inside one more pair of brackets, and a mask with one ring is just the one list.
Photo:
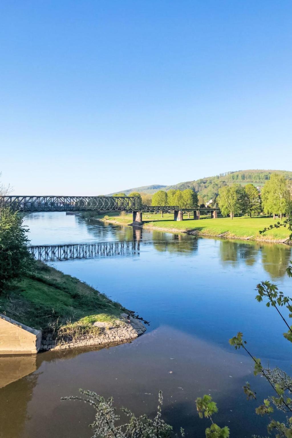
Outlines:
[[145, 331], [133, 311], [77, 278], [33, 261], [17, 213], [2, 210], [0, 237], [0, 318], [41, 330], [41, 350], [120, 343]]

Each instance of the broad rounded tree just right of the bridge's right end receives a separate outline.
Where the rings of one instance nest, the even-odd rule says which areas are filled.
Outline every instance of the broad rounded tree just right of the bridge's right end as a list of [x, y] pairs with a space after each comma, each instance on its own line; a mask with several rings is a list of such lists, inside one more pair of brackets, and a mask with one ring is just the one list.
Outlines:
[[248, 206], [246, 191], [239, 184], [221, 187], [217, 201], [222, 215], [230, 215], [231, 219], [236, 214], [244, 214]]

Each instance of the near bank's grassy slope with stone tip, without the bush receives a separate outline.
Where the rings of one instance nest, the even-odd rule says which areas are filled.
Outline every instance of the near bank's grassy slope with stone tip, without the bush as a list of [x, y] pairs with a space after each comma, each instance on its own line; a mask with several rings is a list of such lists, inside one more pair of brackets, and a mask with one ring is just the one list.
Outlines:
[[120, 303], [42, 262], [0, 296], [0, 314], [41, 330], [41, 350], [119, 343], [145, 331]]

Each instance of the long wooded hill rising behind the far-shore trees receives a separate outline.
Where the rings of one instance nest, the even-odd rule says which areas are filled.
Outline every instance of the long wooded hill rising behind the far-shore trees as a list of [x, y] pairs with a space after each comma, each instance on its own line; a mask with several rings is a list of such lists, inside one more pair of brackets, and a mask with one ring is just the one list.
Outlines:
[[287, 178], [292, 179], [292, 172], [288, 170], [238, 170], [235, 172], [220, 173], [215, 177], [201, 178], [200, 180], [186, 181], [183, 183], [173, 184], [171, 186], [152, 185], [144, 187], [136, 187], [129, 190], [123, 190], [124, 193], [129, 194], [131, 191], [138, 191], [139, 193], [152, 194], [158, 190], [168, 191], [170, 189], [192, 189], [208, 201], [218, 195], [220, 187], [238, 183], [242, 185], [254, 184], [256, 187], [262, 187], [264, 183], [270, 179], [272, 173], [281, 173]]

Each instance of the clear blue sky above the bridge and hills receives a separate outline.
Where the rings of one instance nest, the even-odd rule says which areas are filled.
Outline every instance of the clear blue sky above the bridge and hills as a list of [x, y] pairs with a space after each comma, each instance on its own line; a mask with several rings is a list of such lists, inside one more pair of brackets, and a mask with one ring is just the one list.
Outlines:
[[2, 0], [0, 18], [14, 194], [292, 170], [291, 0]]

